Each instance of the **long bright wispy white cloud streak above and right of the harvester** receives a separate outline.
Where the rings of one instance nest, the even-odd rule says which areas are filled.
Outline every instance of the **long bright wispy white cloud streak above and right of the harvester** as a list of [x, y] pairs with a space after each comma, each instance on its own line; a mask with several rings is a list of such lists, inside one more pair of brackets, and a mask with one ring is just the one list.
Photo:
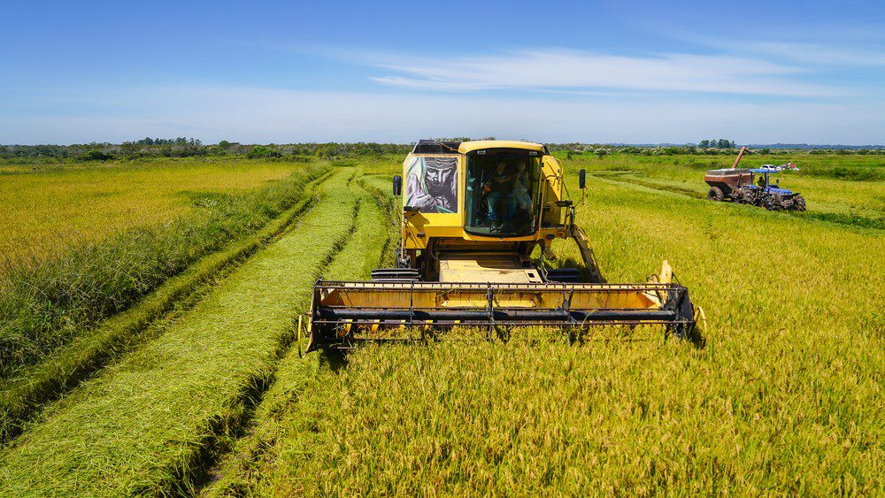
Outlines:
[[369, 61], [390, 73], [376, 82], [401, 88], [702, 92], [757, 96], [844, 96], [843, 89], [804, 83], [806, 69], [762, 58], [663, 54], [627, 57], [574, 50], [520, 50], [482, 57], [389, 57]]

